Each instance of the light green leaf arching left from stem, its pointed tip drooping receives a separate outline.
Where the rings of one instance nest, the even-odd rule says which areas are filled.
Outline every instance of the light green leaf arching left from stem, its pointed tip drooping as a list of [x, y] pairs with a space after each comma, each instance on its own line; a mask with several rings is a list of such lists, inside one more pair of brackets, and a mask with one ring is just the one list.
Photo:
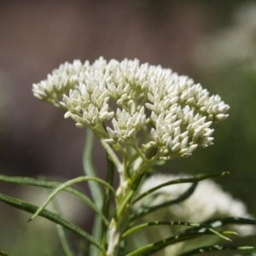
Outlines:
[[36, 218], [38, 216], [39, 212], [41, 212], [44, 209], [44, 207], [46, 207], [48, 205], [49, 201], [51, 201], [52, 198], [55, 197], [55, 195], [57, 195], [59, 192], [61, 192], [61, 190], [65, 190], [67, 187], [70, 187], [76, 183], [87, 182], [87, 181], [94, 181], [96, 183], [100, 183], [103, 186], [110, 189], [110, 191], [113, 193], [113, 195], [115, 195], [115, 191], [114, 191], [113, 187], [98, 177], [84, 177], [84, 176], [75, 177], [71, 180], [68, 180], [66, 183], [61, 183], [61, 185], [59, 187], [57, 187], [54, 191], [52, 191], [52, 193], [49, 194], [48, 199], [46, 201], [44, 201], [44, 204], [38, 208], [38, 211], [34, 213], [32, 218], [30, 218], [30, 220], [32, 220], [33, 218]]

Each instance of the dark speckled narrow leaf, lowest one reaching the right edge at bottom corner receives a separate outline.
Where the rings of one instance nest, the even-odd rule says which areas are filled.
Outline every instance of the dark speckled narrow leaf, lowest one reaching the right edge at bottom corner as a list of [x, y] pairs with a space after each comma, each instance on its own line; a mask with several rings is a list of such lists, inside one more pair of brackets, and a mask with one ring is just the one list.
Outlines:
[[246, 251], [246, 250], [253, 250], [255, 248], [256, 247], [251, 247], [251, 246], [237, 247], [237, 246], [229, 246], [229, 245], [214, 245], [209, 247], [198, 247], [187, 253], [182, 253], [179, 256], [191, 256], [191, 255], [196, 255], [201, 253], [207, 253], [207, 252], [213, 252], [213, 251], [224, 251], [224, 250]]

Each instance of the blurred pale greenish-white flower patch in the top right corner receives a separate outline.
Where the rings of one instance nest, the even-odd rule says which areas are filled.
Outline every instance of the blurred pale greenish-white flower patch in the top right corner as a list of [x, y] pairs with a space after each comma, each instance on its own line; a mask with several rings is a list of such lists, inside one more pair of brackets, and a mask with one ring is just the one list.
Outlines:
[[255, 63], [256, 4], [242, 4], [232, 16], [231, 25], [199, 44], [197, 53], [202, 66], [218, 68]]

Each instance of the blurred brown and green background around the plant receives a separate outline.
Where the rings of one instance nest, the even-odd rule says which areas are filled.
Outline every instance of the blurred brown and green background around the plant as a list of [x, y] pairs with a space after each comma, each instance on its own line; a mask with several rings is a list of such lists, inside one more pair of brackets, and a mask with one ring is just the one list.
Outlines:
[[[0, 0], [1, 174], [67, 180], [83, 173], [85, 132], [34, 98], [32, 84], [64, 61], [94, 61], [101, 55], [171, 67], [230, 104], [230, 118], [215, 125], [214, 146], [161, 171], [230, 171], [218, 183], [255, 216], [256, 1]], [[99, 143], [94, 157], [104, 177]], [[88, 192], [85, 185], [81, 189]], [[0, 192], [35, 204], [46, 195], [5, 183]], [[91, 229], [88, 208], [66, 194], [61, 201], [67, 218]], [[0, 203], [0, 251], [62, 255], [55, 225], [41, 219], [26, 224], [29, 217]], [[238, 243], [255, 244], [255, 236]]]

